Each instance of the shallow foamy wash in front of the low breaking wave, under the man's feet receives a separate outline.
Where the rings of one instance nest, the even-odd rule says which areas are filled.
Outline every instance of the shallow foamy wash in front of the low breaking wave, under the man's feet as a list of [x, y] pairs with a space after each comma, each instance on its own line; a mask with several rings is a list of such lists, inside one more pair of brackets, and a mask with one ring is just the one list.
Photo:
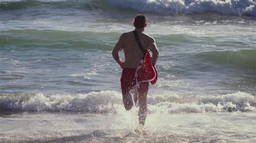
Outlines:
[[0, 122], [0, 141], [256, 141], [255, 112], [150, 113], [143, 134], [137, 132], [136, 110], [118, 114], [23, 111], [1, 115]]

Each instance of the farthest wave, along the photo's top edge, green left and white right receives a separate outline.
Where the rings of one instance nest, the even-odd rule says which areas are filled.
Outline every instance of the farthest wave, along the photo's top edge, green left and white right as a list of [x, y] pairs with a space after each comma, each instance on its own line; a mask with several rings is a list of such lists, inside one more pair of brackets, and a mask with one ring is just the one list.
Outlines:
[[218, 12], [223, 15], [248, 15], [256, 16], [256, 4], [252, 0], [105, 0], [105, 1], [2, 1], [1, 10], [28, 9], [33, 6], [50, 6], [58, 9], [83, 9], [83, 10], [112, 10], [117, 8], [130, 8], [140, 12], [155, 12], [164, 15], [187, 13]]

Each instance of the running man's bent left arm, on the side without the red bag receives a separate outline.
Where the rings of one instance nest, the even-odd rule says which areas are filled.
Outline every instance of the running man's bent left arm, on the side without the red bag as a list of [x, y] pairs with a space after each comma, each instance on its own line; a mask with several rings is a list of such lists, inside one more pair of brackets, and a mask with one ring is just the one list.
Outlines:
[[118, 55], [118, 52], [121, 51], [124, 48], [124, 34], [122, 34], [116, 44], [114, 46], [114, 49], [112, 51], [112, 56], [114, 60], [117, 61], [117, 63], [120, 65], [120, 67], [123, 69], [124, 68], [124, 61], [122, 61]]

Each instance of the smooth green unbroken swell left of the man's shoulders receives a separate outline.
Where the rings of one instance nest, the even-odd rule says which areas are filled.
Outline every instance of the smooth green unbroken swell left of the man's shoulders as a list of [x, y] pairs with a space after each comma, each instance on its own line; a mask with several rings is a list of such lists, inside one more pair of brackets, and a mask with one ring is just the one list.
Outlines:
[[[87, 48], [110, 50], [118, 33], [70, 32], [57, 30], [9, 30], [0, 32], [3, 47]], [[114, 40], [116, 39], [116, 40]]]

